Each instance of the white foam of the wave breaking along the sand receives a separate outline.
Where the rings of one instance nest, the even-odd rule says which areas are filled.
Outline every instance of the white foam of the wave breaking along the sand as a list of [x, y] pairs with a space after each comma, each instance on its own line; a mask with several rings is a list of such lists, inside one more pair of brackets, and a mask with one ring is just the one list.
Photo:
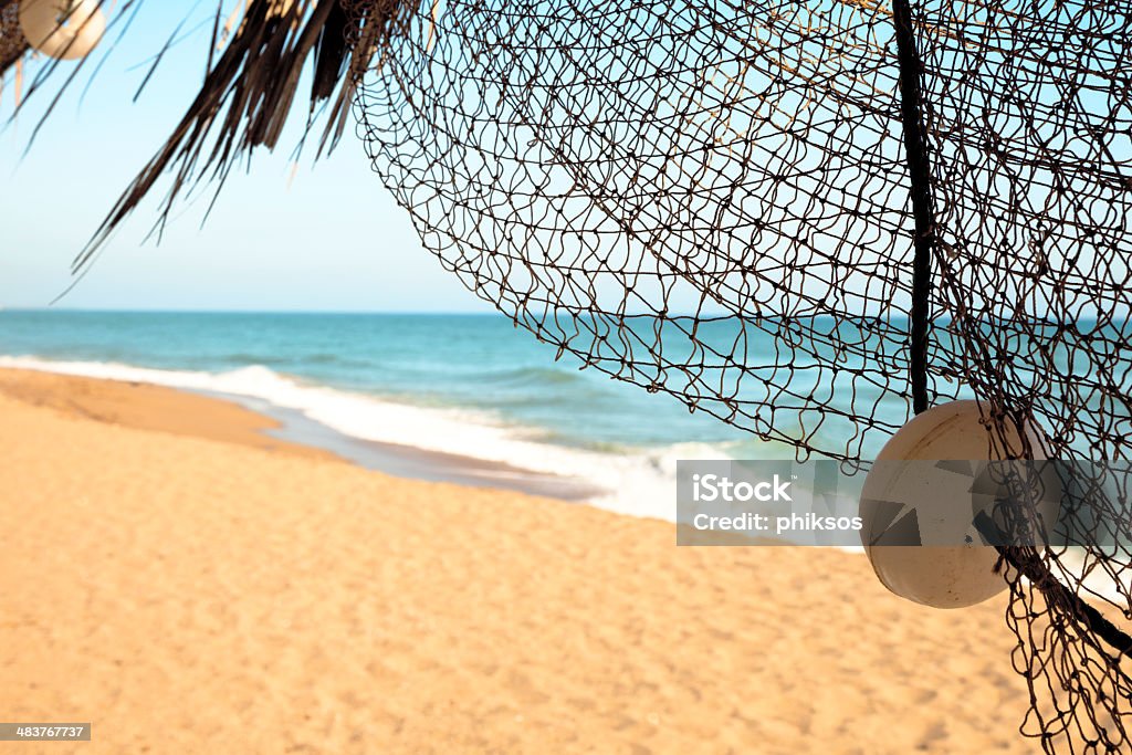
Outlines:
[[677, 444], [635, 453], [598, 453], [533, 439], [533, 428], [458, 409], [396, 403], [375, 396], [301, 383], [266, 367], [228, 372], [161, 370], [113, 362], [51, 361], [0, 357], [0, 367], [115, 380], [265, 401], [298, 411], [338, 432], [365, 440], [413, 446], [549, 474], [584, 480], [604, 491], [594, 506], [633, 516], [676, 520], [677, 460], [727, 458], [707, 444]]

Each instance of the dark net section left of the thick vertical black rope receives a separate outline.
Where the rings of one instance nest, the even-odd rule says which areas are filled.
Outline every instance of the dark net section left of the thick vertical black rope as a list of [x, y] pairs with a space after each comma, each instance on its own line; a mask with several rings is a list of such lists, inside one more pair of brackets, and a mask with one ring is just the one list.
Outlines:
[[908, 417], [874, 411], [908, 384], [890, 37], [841, 3], [421, 6], [361, 112], [426, 246], [541, 340], [857, 458]]

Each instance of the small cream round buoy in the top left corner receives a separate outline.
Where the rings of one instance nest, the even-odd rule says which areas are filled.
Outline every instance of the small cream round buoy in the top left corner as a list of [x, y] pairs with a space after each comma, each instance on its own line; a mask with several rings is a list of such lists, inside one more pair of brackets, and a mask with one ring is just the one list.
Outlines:
[[102, 40], [98, 0], [20, 0], [19, 27], [28, 44], [60, 60], [85, 58]]

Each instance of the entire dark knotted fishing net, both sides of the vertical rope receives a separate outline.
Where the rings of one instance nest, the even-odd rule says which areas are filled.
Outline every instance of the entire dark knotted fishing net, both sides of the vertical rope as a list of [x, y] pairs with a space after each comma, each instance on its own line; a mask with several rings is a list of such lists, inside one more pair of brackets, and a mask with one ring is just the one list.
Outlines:
[[[1126, 460], [1127, 11], [426, 0], [357, 110], [424, 246], [585, 366], [848, 469], [917, 379], [979, 398], [1000, 455]], [[1132, 533], [1097, 469], [1086, 544], [1000, 551], [1050, 753], [1132, 749]]]

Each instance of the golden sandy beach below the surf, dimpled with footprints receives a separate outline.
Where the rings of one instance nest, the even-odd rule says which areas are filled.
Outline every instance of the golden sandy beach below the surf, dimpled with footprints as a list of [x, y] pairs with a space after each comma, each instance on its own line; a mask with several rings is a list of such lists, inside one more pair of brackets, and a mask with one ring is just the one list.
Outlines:
[[1004, 600], [861, 556], [396, 479], [146, 385], [0, 374], [0, 720], [17, 753], [985, 753]]

